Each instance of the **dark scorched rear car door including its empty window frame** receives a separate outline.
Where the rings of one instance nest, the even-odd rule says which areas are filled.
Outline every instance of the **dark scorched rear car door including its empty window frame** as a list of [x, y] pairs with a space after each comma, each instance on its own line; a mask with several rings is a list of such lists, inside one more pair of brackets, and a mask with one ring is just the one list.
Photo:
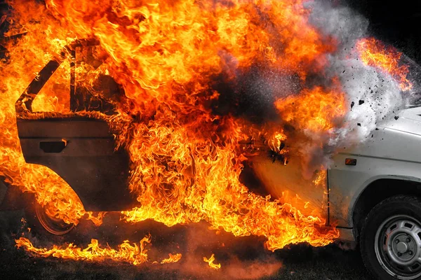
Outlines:
[[[79, 45], [77, 48], [89, 46]], [[109, 112], [112, 104], [100, 100], [97, 102], [99, 106], [89, 106], [91, 96], [86, 90], [78, 89], [75, 82], [76, 47], [71, 52], [71, 111], [106, 109]], [[128, 190], [129, 157], [123, 148], [116, 150], [107, 121], [77, 114], [45, 117], [51, 114], [44, 116], [32, 112], [32, 101], [60, 63], [60, 59], [48, 62], [15, 104], [25, 161], [44, 165], [60, 175], [79, 195], [86, 211], [131, 209], [135, 199]], [[110, 78], [108, 76], [108, 80]]]

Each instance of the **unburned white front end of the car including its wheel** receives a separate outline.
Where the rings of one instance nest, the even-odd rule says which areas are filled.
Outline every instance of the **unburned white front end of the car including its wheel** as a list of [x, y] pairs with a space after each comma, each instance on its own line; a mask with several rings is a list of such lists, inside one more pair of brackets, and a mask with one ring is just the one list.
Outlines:
[[326, 195], [293, 159], [284, 167], [260, 157], [253, 169], [271, 193], [298, 193], [336, 225], [341, 241], [359, 242], [364, 264], [378, 279], [419, 279], [420, 144], [421, 107], [414, 107], [377, 125], [363, 144], [336, 153], [322, 184]]

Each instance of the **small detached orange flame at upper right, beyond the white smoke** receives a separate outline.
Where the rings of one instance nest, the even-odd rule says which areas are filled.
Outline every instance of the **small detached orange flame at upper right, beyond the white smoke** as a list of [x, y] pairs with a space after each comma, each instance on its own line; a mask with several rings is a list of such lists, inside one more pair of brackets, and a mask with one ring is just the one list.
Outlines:
[[408, 65], [399, 65], [402, 53], [395, 48], [387, 47], [375, 38], [363, 38], [356, 43], [361, 60], [368, 66], [380, 69], [391, 75], [399, 83], [401, 90], [411, 90], [411, 83], [407, 76]]

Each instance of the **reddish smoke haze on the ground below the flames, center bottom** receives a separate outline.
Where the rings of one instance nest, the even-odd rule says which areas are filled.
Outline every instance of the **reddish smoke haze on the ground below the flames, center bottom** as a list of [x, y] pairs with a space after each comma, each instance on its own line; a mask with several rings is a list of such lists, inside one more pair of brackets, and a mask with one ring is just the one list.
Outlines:
[[[177, 267], [180, 275], [199, 279], [261, 279], [279, 272], [282, 262], [267, 251], [260, 237], [234, 237], [224, 231], [211, 231], [207, 223], [189, 225], [185, 230], [185, 254]], [[215, 254], [218, 270], [203, 262]]]

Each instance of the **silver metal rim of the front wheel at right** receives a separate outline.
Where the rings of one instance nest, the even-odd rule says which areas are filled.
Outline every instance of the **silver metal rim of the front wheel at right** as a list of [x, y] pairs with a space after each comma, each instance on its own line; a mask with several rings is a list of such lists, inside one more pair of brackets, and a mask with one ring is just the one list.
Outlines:
[[388, 218], [375, 235], [375, 255], [396, 279], [421, 276], [421, 223], [406, 215]]

